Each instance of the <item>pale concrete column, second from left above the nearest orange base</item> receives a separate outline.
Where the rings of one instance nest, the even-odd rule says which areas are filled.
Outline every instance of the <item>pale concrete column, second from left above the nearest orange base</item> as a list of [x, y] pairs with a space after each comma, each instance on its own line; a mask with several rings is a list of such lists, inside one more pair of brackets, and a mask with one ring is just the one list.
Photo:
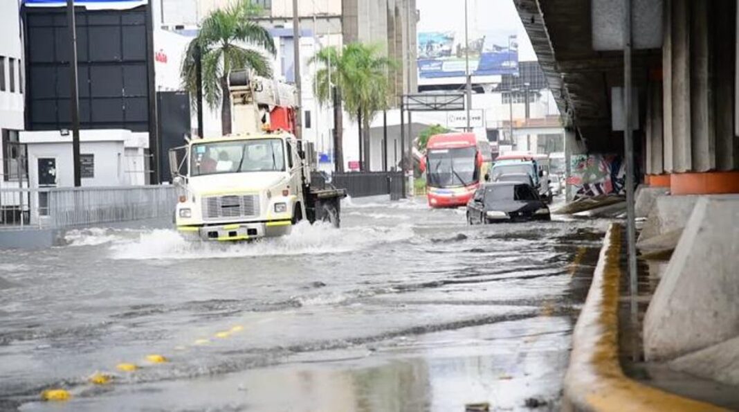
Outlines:
[[690, 0], [672, 0], [672, 171], [688, 172], [690, 152]]

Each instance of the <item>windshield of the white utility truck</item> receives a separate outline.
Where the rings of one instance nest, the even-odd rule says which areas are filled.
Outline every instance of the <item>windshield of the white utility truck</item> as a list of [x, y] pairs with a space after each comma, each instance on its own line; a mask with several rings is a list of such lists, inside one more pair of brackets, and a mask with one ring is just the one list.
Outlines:
[[190, 158], [191, 176], [285, 170], [281, 139], [195, 143]]

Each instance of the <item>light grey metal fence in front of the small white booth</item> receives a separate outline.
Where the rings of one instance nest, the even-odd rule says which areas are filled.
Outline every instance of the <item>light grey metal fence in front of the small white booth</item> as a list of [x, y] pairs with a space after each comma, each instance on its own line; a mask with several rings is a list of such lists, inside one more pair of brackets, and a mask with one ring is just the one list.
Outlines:
[[5, 203], [0, 229], [24, 226], [68, 228], [99, 223], [170, 217], [174, 186], [0, 189]]

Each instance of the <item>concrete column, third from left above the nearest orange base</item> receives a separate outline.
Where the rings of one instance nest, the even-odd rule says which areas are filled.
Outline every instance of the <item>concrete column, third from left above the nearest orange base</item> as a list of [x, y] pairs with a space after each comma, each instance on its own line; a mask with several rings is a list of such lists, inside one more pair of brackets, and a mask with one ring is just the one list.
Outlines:
[[690, 162], [692, 172], [716, 166], [712, 1], [690, 2]]

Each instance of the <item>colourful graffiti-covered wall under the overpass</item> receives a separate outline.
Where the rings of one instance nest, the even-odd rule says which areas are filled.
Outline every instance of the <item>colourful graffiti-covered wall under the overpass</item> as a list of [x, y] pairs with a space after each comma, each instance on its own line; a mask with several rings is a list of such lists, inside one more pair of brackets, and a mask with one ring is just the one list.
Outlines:
[[568, 190], [572, 198], [623, 195], [624, 164], [619, 155], [571, 155]]

